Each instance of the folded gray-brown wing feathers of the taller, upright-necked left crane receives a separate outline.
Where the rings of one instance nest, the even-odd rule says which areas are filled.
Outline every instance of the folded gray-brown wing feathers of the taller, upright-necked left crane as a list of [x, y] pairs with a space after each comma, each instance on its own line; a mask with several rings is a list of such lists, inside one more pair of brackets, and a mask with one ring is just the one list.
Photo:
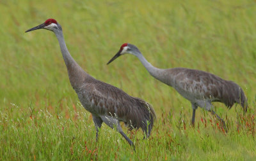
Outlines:
[[150, 135], [156, 113], [143, 99], [131, 97], [119, 88], [102, 81], [86, 83], [83, 91], [86, 92], [84, 95], [87, 95], [97, 115], [116, 116], [119, 121], [125, 122], [130, 130], [141, 127], [147, 136]]

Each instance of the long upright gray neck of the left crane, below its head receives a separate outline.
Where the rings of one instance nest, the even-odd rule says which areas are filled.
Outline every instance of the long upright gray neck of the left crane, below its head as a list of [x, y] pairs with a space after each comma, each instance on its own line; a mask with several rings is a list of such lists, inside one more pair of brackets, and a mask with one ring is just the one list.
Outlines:
[[86, 76], [89, 76], [89, 74], [83, 71], [83, 69], [77, 64], [77, 62], [68, 52], [62, 31], [55, 32], [55, 34], [58, 38], [61, 53], [67, 66], [70, 83], [74, 89], [79, 88], [81, 87], [81, 85], [83, 85], [84, 79], [86, 78]]

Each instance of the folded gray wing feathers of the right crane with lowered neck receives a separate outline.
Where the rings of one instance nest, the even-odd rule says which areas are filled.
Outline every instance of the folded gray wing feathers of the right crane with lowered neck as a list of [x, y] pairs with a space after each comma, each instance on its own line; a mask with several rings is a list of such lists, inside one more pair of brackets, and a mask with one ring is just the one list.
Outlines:
[[246, 96], [242, 88], [233, 81], [223, 80], [214, 74], [195, 69], [173, 68], [170, 72], [175, 78], [176, 86], [182, 88], [188, 97], [223, 102], [227, 108], [239, 103], [246, 112], [248, 107]]

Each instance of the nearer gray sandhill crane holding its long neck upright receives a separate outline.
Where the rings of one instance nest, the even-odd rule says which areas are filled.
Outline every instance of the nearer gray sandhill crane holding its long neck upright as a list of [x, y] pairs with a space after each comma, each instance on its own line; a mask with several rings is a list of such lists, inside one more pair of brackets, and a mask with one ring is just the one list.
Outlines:
[[120, 122], [124, 122], [129, 127], [129, 130], [141, 128], [146, 137], [150, 136], [154, 120], [156, 120], [156, 113], [150, 104], [143, 99], [131, 97], [108, 83], [96, 80], [83, 71], [68, 52], [61, 25], [56, 20], [49, 18], [43, 24], [26, 32], [37, 29], [53, 31], [58, 38], [61, 53], [67, 66], [70, 84], [76, 91], [84, 108], [92, 113], [96, 129], [96, 140], [102, 122], [112, 129], [116, 127], [116, 130], [122, 134], [133, 148], [134, 144], [124, 134]]

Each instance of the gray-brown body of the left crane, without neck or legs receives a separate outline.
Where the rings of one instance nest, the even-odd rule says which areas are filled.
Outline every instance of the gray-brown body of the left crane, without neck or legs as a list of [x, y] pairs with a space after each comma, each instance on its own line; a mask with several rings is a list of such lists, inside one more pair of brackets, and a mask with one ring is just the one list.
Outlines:
[[90, 111], [93, 117], [102, 120], [110, 119], [105, 122], [110, 127], [113, 127], [116, 122], [124, 122], [131, 129], [141, 127], [146, 134], [148, 128], [147, 136], [149, 136], [153, 123], [151, 122], [147, 127], [147, 122], [150, 122], [151, 117], [154, 118], [152, 114], [154, 111], [150, 104], [142, 99], [131, 97], [108, 83], [92, 77], [86, 79], [84, 81], [86, 83], [75, 90], [84, 108]]

